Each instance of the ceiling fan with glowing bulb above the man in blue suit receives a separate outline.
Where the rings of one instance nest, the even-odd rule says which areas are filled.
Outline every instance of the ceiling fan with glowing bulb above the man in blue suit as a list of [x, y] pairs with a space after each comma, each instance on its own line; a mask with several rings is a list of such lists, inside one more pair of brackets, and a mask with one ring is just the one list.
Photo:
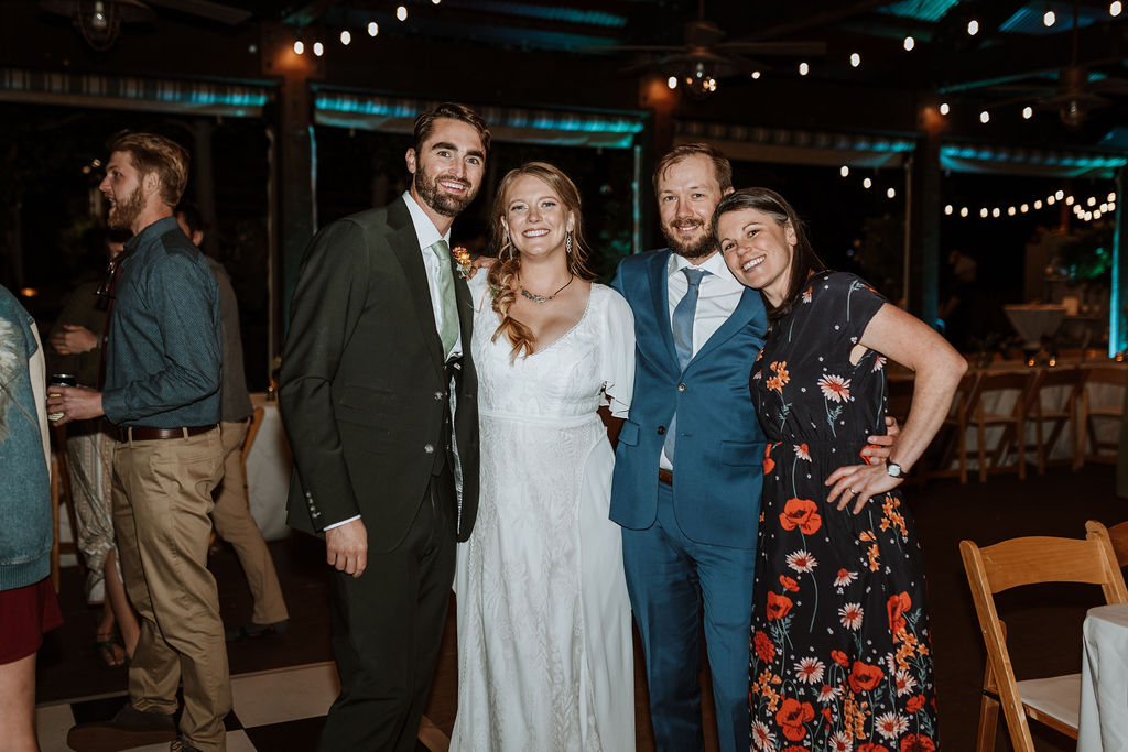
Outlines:
[[705, 0], [699, 0], [697, 19], [686, 24], [685, 42], [680, 45], [616, 44], [588, 50], [654, 53], [656, 60], [627, 70], [660, 70], [697, 98], [715, 91], [720, 78], [770, 70], [770, 67], [744, 55], [799, 57], [825, 55], [827, 52], [822, 42], [723, 42], [724, 36], [717, 24], [705, 18]]

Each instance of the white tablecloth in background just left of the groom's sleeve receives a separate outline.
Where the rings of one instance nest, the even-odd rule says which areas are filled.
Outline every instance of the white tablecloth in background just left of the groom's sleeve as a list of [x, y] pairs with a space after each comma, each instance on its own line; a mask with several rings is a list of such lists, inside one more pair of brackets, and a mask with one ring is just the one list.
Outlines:
[[252, 395], [250, 401], [264, 410], [263, 423], [247, 454], [250, 515], [263, 531], [263, 538], [279, 540], [290, 533], [285, 524], [285, 497], [293, 455], [282, 428], [279, 404], [267, 401], [266, 395]]

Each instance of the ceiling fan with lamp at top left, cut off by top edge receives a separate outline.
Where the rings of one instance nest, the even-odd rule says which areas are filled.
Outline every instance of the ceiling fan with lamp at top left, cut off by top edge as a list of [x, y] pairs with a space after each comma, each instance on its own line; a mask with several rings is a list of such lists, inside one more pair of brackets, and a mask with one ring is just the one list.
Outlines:
[[122, 24], [148, 23], [157, 14], [149, 6], [161, 6], [190, 16], [236, 26], [250, 18], [250, 11], [212, 0], [41, 0], [39, 6], [52, 14], [73, 19], [82, 38], [98, 51], [108, 50], [117, 41]]

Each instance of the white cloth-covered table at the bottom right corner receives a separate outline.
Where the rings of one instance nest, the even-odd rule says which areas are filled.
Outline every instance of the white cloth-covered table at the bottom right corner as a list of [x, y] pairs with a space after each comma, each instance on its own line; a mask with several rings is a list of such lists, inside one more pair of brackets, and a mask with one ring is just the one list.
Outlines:
[[1090, 609], [1077, 752], [1128, 750], [1128, 603]]

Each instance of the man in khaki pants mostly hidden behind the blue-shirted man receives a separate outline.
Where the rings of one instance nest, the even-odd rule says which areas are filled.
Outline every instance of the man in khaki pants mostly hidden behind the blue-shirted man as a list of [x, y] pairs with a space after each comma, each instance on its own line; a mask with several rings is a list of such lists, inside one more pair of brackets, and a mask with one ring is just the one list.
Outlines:
[[[176, 221], [196, 248], [203, 248], [204, 222], [200, 209], [182, 203]], [[282, 634], [290, 614], [282, 598], [282, 586], [274, 559], [263, 540], [263, 533], [250, 516], [247, 504], [247, 479], [243, 469], [243, 444], [250, 427], [250, 395], [243, 369], [243, 339], [239, 336], [239, 303], [223, 264], [204, 254], [204, 259], [219, 285], [219, 318], [223, 327], [223, 386], [220, 388], [220, 437], [223, 441], [223, 479], [215, 489], [215, 506], [211, 517], [215, 532], [235, 549], [247, 576], [255, 601], [250, 621], [224, 632], [227, 642], [240, 638]]]

